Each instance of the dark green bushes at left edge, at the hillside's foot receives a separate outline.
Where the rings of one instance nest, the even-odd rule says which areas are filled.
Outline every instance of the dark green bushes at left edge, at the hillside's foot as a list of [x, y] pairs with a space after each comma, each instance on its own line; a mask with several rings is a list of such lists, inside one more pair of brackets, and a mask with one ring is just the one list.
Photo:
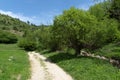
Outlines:
[[15, 34], [0, 30], [0, 43], [16, 43], [16, 42], [17, 37]]

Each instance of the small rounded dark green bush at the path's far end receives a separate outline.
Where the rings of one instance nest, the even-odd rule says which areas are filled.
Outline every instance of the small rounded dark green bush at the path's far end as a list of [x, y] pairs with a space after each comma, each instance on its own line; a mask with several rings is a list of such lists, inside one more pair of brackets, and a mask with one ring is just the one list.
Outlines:
[[36, 42], [28, 38], [19, 40], [18, 46], [27, 51], [34, 51], [37, 48]]

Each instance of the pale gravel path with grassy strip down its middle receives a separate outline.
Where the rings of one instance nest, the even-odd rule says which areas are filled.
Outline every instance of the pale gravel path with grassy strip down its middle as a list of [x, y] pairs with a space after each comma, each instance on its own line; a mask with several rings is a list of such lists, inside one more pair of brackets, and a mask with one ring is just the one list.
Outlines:
[[31, 78], [29, 80], [73, 80], [56, 64], [46, 61], [39, 53], [29, 52]]

